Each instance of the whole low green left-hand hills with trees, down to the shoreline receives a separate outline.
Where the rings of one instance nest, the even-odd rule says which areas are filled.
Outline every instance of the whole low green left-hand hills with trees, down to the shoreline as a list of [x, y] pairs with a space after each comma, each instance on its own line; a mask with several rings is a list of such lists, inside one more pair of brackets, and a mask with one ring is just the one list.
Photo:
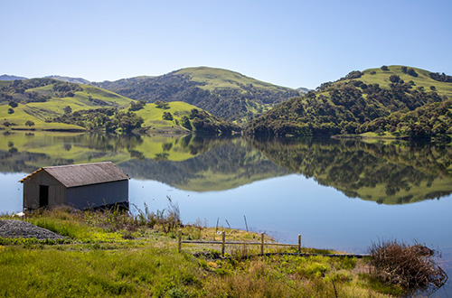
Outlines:
[[182, 102], [146, 105], [111, 91], [56, 79], [5, 81], [0, 85], [0, 125], [13, 129], [146, 131], [231, 134], [238, 130]]

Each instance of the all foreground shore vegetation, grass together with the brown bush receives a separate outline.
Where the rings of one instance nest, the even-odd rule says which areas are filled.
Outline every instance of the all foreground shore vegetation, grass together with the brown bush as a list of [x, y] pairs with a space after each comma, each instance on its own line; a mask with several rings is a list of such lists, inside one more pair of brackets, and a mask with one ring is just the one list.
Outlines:
[[[33, 224], [62, 237], [7, 234], [11, 219], [26, 220], [16, 222], [27, 230], [35, 232]], [[225, 257], [214, 245], [184, 245], [179, 252], [179, 230], [184, 240], [221, 241], [221, 233], [199, 222], [183, 225], [174, 205], [137, 216], [63, 208], [0, 220], [0, 294], [5, 297], [395, 297], [435, 290], [447, 281], [431, 249], [396, 241], [374, 244], [371, 256], [363, 258], [320, 256], [340, 253], [307, 247], [302, 255], [296, 248], [266, 247], [266, 256], [260, 256], [259, 247], [246, 244], [228, 246]], [[229, 241], [260, 238], [220, 229]]]

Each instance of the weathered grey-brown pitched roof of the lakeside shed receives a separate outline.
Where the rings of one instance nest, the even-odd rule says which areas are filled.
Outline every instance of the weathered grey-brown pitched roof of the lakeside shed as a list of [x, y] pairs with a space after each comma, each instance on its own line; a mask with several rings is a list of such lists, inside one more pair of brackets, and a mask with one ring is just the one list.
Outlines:
[[124, 172], [119, 170], [114, 163], [106, 162], [42, 167], [41, 169], [26, 176], [20, 182], [24, 182], [35, 173], [41, 171], [48, 172], [53, 178], [68, 188], [89, 184], [117, 182], [129, 179], [129, 177]]

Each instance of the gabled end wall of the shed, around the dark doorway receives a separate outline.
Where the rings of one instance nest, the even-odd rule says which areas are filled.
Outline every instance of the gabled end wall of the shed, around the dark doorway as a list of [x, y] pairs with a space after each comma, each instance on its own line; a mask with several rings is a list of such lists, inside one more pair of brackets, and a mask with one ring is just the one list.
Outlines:
[[49, 173], [36, 172], [24, 181], [24, 208], [38, 209], [40, 185], [49, 186], [49, 207], [66, 204], [66, 188]]

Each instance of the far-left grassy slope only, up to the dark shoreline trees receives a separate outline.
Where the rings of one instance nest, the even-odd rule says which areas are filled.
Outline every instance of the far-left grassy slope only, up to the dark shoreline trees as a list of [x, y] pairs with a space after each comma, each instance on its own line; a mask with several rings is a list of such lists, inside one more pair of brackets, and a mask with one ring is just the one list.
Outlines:
[[[71, 111], [97, 107], [128, 107], [132, 99], [108, 90], [56, 79], [25, 79], [5, 82], [0, 86], [0, 125], [16, 129], [73, 130], [81, 126], [54, 123], [52, 119]], [[34, 126], [25, 126], [32, 121]], [[5, 125], [6, 123], [6, 125]]]

